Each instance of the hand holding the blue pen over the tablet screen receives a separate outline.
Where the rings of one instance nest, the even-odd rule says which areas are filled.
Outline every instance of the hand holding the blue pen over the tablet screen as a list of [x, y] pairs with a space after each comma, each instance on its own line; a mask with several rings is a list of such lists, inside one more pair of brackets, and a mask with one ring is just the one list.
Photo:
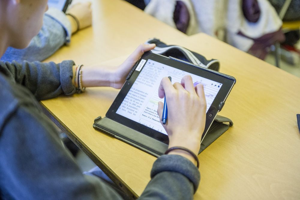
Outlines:
[[[164, 77], [158, 89], [158, 96], [164, 98], [168, 105], [168, 120], [164, 125], [169, 136], [169, 148], [182, 146], [198, 155], [200, 141], [205, 127], [206, 100], [203, 85], [193, 86], [190, 75], [182, 78], [181, 83], [172, 85], [169, 78]], [[158, 115], [161, 119], [163, 102], [158, 102]], [[162, 123], [162, 121], [161, 121]], [[179, 154], [195, 162], [190, 154], [182, 150], [174, 150], [169, 154]]]

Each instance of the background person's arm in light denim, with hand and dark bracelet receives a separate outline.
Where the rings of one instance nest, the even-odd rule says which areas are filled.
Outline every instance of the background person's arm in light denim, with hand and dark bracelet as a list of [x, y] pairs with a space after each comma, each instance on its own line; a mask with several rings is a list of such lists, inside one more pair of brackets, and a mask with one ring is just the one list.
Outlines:
[[71, 35], [91, 26], [91, 22], [90, 2], [71, 5], [66, 14], [56, 8], [50, 8], [44, 14], [40, 32], [32, 39], [29, 46], [25, 49], [8, 47], [1, 61], [42, 61], [55, 53], [62, 45], [69, 44]]

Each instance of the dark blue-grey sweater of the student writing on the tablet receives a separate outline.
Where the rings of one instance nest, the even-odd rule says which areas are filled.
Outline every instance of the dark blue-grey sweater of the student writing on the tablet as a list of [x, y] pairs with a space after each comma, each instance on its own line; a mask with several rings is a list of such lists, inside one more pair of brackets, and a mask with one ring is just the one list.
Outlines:
[[[96, 176], [82, 174], [37, 100], [75, 92], [73, 61], [0, 62], [0, 199], [122, 199]], [[200, 174], [179, 155], [153, 164], [140, 199], [192, 199]]]

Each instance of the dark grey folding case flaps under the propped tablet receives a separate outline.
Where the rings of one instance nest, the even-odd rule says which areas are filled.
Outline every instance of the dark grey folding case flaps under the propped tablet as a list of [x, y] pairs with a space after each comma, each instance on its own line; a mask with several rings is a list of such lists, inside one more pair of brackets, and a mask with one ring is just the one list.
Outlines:
[[[217, 115], [201, 143], [199, 153], [201, 153], [220, 135], [228, 130], [229, 126], [232, 125], [233, 122], [230, 119]], [[97, 117], [94, 120], [93, 127], [156, 157], [164, 154], [164, 152], [168, 149], [167, 144], [155, 140], [148, 135], [141, 134], [140, 132], [124, 126], [107, 117]]]

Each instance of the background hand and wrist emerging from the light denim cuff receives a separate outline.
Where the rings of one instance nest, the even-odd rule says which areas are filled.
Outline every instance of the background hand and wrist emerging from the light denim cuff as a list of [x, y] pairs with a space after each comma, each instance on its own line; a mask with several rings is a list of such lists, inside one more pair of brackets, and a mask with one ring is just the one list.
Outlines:
[[[77, 3], [68, 8], [66, 14], [71, 14], [79, 21], [79, 29], [84, 29], [92, 24], [91, 2]], [[72, 26], [72, 33], [76, 31], [76, 21], [68, 17]]]

